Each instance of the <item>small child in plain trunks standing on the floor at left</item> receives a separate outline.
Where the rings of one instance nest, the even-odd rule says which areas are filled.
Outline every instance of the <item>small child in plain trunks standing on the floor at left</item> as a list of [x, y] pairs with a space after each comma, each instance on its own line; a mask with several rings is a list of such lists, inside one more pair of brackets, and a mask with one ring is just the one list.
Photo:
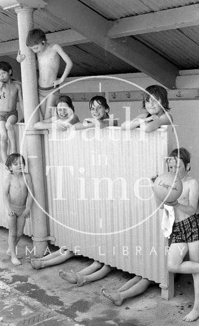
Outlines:
[[10, 171], [4, 181], [4, 201], [8, 209], [9, 229], [7, 255], [11, 256], [13, 265], [21, 265], [16, 256], [16, 244], [23, 234], [25, 219], [30, 218], [33, 198], [27, 186], [33, 193], [33, 184], [30, 174], [23, 171], [25, 161], [22, 155], [11, 154], [6, 161], [6, 166]]

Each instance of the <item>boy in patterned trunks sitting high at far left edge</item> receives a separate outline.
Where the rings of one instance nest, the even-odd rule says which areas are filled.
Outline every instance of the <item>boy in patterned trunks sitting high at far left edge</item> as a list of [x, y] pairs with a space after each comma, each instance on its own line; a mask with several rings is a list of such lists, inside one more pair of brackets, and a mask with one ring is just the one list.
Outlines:
[[12, 67], [8, 62], [0, 62], [0, 137], [2, 158], [8, 158], [8, 139], [11, 143], [11, 153], [16, 153], [16, 135], [14, 124], [18, 119], [17, 96], [23, 114], [23, 99], [21, 85], [12, 80]]

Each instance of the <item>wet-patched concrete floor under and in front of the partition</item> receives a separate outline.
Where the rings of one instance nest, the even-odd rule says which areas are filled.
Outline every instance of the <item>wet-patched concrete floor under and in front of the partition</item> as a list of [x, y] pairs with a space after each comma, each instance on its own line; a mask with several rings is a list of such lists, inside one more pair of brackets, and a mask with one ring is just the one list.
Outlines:
[[[84, 257], [35, 270], [25, 261], [25, 247], [32, 249], [32, 240], [23, 236], [18, 245], [22, 265], [14, 266], [6, 255], [8, 230], [0, 227], [0, 323], [3, 326], [182, 326], [182, 317], [194, 300], [191, 275], [179, 275], [175, 297], [161, 299], [161, 289], [153, 286], [121, 307], [112, 304], [100, 293], [102, 286], [117, 289], [132, 275], [113, 270], [104, 279], [78, 287], [61, 279], [60, 268], [78, 271], [92, 263]], [[53, 246], [50, 250], [58, 248]], [[198, 320], [191, 323], [198, 325]]]

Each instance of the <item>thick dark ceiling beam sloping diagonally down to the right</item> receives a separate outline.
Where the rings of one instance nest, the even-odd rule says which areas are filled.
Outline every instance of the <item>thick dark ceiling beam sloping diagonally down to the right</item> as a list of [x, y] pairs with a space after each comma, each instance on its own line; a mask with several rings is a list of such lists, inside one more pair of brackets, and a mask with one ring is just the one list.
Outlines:
[[109, 51], [129, 65], [146, 73], [162, 85], [174, 89], [179, 69], [143, 43], [126, 37], [106, 36], [109, 21], [77, 0], [48, 0], [48, 11], [65, 20], [67, 25], [88, 40]]

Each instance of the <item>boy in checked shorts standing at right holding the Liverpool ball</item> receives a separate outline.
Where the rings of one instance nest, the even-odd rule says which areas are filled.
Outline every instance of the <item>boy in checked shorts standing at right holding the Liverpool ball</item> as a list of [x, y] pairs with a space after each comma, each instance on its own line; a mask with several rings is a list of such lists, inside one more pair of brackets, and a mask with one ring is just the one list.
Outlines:
[[[185, 148], [173, 150], [167, 158], [168, 170], [178, 173], [183, 184], [177, 201], [165, 204], [174, 207], [172, 244], [169, 248], [167, 268], [172, 273], [192, 274], [195, 300], [192, 310], [183, 318], [194, 321], [199, 317], [199, 183], [188, 175], [190, 153]], [[178, 170], [178, 171], [177, 171]], [[155, 196], [156, 201], [157, 197]], [[183, 261], [189, 252], [189, 261]]]

